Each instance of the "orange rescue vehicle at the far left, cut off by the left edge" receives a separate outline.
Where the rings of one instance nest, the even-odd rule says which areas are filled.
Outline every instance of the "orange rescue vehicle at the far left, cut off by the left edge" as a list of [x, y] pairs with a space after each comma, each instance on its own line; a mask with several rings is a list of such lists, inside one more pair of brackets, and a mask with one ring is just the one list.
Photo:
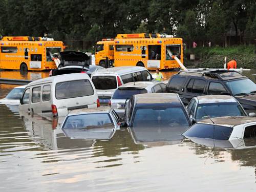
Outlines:
[[47, 37], [5, 36], [0, 40], [0, 49], [0, 69], [42, 71], [57, 68], [54, 53], [65, 46]]

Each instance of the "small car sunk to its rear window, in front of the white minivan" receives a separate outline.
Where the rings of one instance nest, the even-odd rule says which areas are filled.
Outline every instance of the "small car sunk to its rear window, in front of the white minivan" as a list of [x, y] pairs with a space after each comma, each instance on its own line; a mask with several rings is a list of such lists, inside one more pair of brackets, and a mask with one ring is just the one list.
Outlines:
[[96, 109], [83, 109], [72, 111], [63, 121], [61, 129], [83, 129], [106, 131], [119, 128], [119, 120], [116, 112], [106, 106]]

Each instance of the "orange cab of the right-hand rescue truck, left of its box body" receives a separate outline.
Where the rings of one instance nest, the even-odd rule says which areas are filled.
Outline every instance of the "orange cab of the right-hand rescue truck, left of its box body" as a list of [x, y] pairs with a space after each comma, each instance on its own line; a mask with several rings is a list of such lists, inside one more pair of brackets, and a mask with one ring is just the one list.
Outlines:
[[104, 68], [114, 63], [114, 39], [102, 39], [96, 44], [95, 64]]

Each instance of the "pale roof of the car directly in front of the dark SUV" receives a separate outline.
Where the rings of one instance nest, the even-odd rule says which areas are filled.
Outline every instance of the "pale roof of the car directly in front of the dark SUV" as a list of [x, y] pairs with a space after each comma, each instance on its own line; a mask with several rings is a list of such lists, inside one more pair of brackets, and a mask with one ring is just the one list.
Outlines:
[[196, 97], [198, 99], [198, 103], [221, 103], [221, 102], [237, 102], [230, 95], [202, 95]]

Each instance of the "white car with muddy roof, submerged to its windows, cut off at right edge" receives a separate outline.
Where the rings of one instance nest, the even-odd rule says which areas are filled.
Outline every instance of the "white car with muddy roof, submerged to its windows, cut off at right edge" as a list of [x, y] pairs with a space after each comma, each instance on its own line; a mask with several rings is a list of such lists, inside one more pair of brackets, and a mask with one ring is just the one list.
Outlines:
[[205, 119], [190, 126], [182, 135], [188, 139], [216, 140], [256, 137], [256, 117], [228, 116]]

